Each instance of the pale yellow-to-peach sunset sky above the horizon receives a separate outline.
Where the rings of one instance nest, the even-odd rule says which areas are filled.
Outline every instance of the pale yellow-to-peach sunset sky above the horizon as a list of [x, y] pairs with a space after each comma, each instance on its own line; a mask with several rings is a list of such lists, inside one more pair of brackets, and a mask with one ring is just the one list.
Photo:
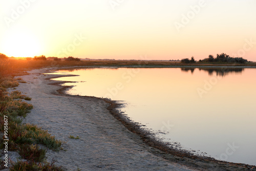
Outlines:
[[0, 0], [0, 53], [256, 61], [256, 0]]

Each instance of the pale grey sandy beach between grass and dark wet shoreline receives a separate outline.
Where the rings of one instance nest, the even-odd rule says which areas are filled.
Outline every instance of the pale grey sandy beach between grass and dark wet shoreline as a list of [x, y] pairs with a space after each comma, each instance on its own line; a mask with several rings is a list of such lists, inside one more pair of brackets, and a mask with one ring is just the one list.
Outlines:
[[53, 69], [29, 71], [30, 75], [22, 76], [27, 83], [17, 87], [32, 98], [34, 106], [24, 123], [36, 124], [63, 142], [59, 152], [48, 149], [48, 162], [53, 160], [66, 170], [256, 170], [246, 164], [175, 156], [151, 147], [117, 120], [103, 99], [60, 94], [60, 82], [50, 80], [58, 75], [42, 74]]

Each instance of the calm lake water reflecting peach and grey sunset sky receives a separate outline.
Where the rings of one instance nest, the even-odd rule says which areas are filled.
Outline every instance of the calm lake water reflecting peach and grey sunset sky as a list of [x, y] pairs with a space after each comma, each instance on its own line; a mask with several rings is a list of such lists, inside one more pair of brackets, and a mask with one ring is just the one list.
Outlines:
[[[124, 100], [127, 116], [177, 148], [256, 165], [256, 69], [118, 68], [58, 71], [67, 93]], [[162, 134], [162, 133], [165, 134]], [[207, 154], [205, 154], [207, 153]]]

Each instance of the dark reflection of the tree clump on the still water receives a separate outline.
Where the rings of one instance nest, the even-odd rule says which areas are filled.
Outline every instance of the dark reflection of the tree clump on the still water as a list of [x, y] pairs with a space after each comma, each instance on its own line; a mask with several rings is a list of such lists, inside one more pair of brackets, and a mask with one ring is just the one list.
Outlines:
[[[196, 68], [181, 68], [182, 72], [191, 72], [191, 74], [194, 73]], [[208, 72], [208, 74], [211, 76], [214, 73], [216, 73], [217, 76], [224, 77], [228, 75], [229, 73], [236, 73], [241, 74], [244, 71], [244, 68], [198, 68], [199, 71], [205, 71]]]

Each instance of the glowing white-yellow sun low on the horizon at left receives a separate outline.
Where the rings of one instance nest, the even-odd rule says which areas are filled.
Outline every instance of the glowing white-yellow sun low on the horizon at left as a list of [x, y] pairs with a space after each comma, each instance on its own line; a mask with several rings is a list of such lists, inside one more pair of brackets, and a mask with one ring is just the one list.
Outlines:
[[14, 57], [33, 57], [41, 53], [41, 46], [32, 33], [9, 32], [2, 42], [1, 53]]

